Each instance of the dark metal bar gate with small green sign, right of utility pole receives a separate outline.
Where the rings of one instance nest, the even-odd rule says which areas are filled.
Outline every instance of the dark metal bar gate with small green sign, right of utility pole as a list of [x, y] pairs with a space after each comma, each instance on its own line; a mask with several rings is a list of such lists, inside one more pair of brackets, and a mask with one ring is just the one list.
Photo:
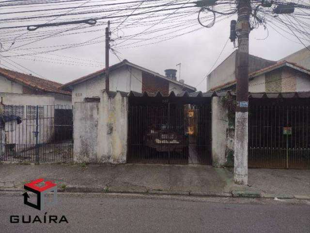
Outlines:
[[249, 167], [310, 168], [309, 102], [250, 104], [248, 144]]

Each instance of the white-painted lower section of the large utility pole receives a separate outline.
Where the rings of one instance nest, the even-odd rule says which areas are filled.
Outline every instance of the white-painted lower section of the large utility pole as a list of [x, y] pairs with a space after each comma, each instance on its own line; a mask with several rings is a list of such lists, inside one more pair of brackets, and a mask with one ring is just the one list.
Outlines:
[[233, 182], [248, 184], [248, 112], [236, 112]]

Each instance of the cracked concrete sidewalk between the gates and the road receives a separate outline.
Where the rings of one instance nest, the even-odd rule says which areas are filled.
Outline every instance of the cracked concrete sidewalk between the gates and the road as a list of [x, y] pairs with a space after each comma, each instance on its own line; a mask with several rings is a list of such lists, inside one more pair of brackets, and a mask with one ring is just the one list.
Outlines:
[[0, 189], [20, 190], [44, 178], [60, 190], [231, 196], [233, 190], [278, 197], [310, 195], [310, 170], [249, 169], [249, 186], [233, 183], [232, 168], [188, 165], [0, 164]]

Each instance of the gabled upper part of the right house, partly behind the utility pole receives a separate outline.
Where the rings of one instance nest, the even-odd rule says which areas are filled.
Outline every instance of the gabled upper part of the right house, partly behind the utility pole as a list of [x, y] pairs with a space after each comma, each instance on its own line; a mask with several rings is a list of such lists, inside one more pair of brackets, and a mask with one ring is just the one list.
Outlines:
[[[287, 61], [252, 72], [248, 77], [248, 91], [251, 93], [310, 91], [310, 70]], [[233, 81], [212, 90], [235, 90], [235, 88], [236, 81]]]

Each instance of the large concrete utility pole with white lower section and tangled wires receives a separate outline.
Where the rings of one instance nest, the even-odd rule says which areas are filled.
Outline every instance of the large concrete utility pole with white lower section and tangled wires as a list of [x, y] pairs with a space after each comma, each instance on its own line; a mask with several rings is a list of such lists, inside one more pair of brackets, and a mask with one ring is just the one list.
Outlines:
[[248, 36], [250, 0], [237, 0], [237, 106], [235, 115], [234, 183], [248, 184]]

